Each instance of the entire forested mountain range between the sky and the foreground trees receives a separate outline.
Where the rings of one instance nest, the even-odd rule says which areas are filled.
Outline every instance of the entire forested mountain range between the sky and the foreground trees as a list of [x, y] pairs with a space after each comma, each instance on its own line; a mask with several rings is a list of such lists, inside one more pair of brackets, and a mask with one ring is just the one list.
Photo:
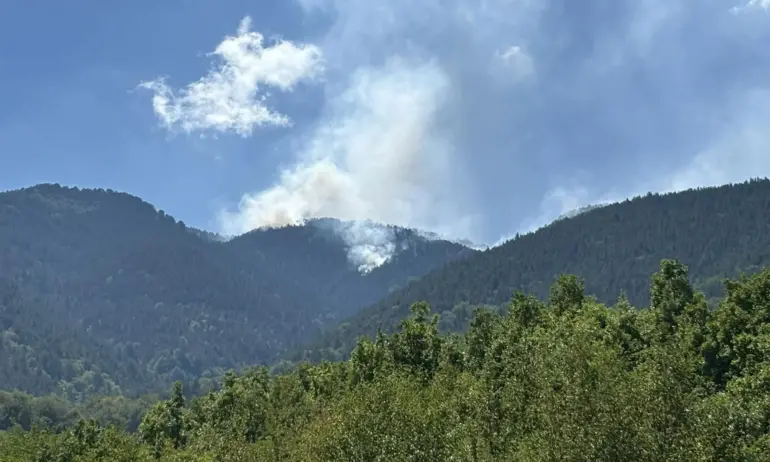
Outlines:
[[74, 400], [173, 380], [196, 392], [228, 368], [344, 357], [416, 301], [442, 329], [463, 330], [475, 306], [504, 307], [516, 290], [546, 298], [562, 272], [600, 301], [626, 292], [644, 306], [664, 258], [680, 258], [714, 298], [722, 277], [770, 261], [769, 209], [764, 179], [650, 193], [487, 251], [392, 227], [408, 251], [362, 273], [344, 238], [314, 222], [222, 240], [126, 193], [0, 193], [0, 347], [13, 356], [0, 377]]

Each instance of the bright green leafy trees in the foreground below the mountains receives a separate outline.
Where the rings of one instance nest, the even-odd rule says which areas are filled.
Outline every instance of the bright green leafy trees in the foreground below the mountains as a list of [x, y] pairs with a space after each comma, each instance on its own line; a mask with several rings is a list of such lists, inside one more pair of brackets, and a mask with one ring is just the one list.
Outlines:
[[177, 382], [135, 432], [17, 426], [0, 461], [770, 460], [770, 270], [724, 288], [710, 309], [663, 260], [636, 309], [561, 275], [462, 336], [415, 303], [347, 361], [230, 372], [193, 399]]

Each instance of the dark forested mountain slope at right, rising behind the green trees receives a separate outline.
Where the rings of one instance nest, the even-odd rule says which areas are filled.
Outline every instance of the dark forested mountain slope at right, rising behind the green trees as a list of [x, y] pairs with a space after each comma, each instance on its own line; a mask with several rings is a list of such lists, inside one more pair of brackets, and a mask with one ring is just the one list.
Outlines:
[[442, 314], [447, 328], [467, 325], [472, 304], [500, 306], [514, 291], [548, 297], [561, 273], [584, 279], [586, 292], [611, 303], [621, 292], [649, 303], [649, 280], [665, 258], [689, 266], [712, 300], [722, 279], [770, 264], [770, 181], [647, 194], [580, 210], [535, 232], [456, 261], [359, 311], [292, 359], [340, 358], [360, 335], [392, 331], [416, 301]]

